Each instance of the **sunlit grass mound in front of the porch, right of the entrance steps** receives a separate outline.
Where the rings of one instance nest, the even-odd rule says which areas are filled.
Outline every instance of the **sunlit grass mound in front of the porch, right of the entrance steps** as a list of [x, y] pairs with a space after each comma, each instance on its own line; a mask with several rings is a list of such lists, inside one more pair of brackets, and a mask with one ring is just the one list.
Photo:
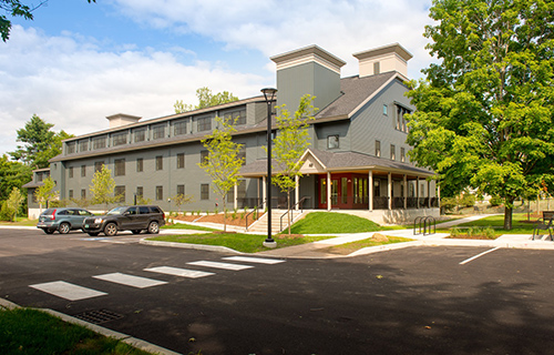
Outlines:
[[361, 233], [388, 231], [394, 227], [384, 227], [369, 220], [351, 214], [336, 212], [312, 212], [295, 223], [293, 234], [327, 234], [327, 233]]

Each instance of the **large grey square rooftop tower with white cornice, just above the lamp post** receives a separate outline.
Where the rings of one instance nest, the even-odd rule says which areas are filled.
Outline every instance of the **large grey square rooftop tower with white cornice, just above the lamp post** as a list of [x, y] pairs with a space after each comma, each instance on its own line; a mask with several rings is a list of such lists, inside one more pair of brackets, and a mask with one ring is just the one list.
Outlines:
[[318, 45], [270, 58], [277, 64], [277, 104], [295, 112], [302, 95], [315, 95], [319, 110], [340, 95], [340, 68], [346, 62]]

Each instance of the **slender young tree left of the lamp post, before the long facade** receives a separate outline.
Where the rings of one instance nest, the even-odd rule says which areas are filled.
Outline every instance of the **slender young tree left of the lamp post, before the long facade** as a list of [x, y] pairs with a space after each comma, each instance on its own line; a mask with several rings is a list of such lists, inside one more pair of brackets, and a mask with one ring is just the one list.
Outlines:
[[243, 144], [232, 141], [232, 133], [236, 132], [232, 122], [222, 118], [215, 118], [217, 125], [211, 135], [202, 140], [202, 144], [208, 150], [205, 161], [201, 166], [212, 178], [212, 190], [223, 201], [223, 230], [227, 231], [227, 209], [225, 195], [238, 181], [240, 166], [244, 159], [239, 158]]

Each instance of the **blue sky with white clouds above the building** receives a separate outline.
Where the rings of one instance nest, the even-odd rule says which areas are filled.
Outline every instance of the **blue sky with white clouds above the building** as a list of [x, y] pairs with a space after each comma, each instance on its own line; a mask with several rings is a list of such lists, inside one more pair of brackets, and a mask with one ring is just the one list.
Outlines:
[[[39, 3], [39, 0], [33, 0]], [[23, 0], [24, 3], [30, 3]], [[33, 114], [53, 131], [85, 134], [106, 116], [148, 120], [196, 104], [196, 89], [239, 99], [275, 87], [270, 57], [317, 44], [358, 74], [352, 53], [400, 43], [411, 79], [425, 50], [431, 0], [49, 0], [33, 21], [12, 18], [0, 41], [0, 154]]]

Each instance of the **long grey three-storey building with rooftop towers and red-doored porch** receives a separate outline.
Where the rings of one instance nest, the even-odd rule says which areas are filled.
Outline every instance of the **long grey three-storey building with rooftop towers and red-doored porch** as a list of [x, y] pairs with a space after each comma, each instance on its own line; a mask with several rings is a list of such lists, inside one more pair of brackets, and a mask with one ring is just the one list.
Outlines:
[[[276, 104], [294, 112], [300, 98], [311, 94], [318, 108], [309, 122], [310, 145], [301, 158], [302, 178], [293, 204], [301, 201], [304, 209], [349, 211], [380, 223], [438, 215], [435, 183], [428, 179], [433, 173], [408, 158], [404, 115], [414, 108], [404, 97], [409, 89], [403, 82], [412, 55], [396, 43], [353, 57], [359, 74], [349, 78], [340, 78], [346, 62], [317, 45], [271, 58], [277, 67]], [[109, 129], [63, 141], [63, 153], [50, 161], [50, 171], [34, 173], [27, 184], [30, 216], [39, 213], [33, 191], [42, 176], [50, 174], [62, 200], [90, 199], [93, 174], [104, 164], [122, 196], [119, 204], [144, 199], [176, 211], [172, 199], [187, 194], [193, 202], [182, 210], [214, 211], [222, 201], [198, 163], [207, 154], [201, 140], [216, 129], [216, 116], [235, 119], [233, 140], [244, 144], [242, 179], [226, 196], [227, 205], [264, 209], [267, 105], [258, 95], [151, 120], [122, 113], [107, 116]], [[286, 206], [286, 195], [277, 186], [271, 195], [273, 207]]]

